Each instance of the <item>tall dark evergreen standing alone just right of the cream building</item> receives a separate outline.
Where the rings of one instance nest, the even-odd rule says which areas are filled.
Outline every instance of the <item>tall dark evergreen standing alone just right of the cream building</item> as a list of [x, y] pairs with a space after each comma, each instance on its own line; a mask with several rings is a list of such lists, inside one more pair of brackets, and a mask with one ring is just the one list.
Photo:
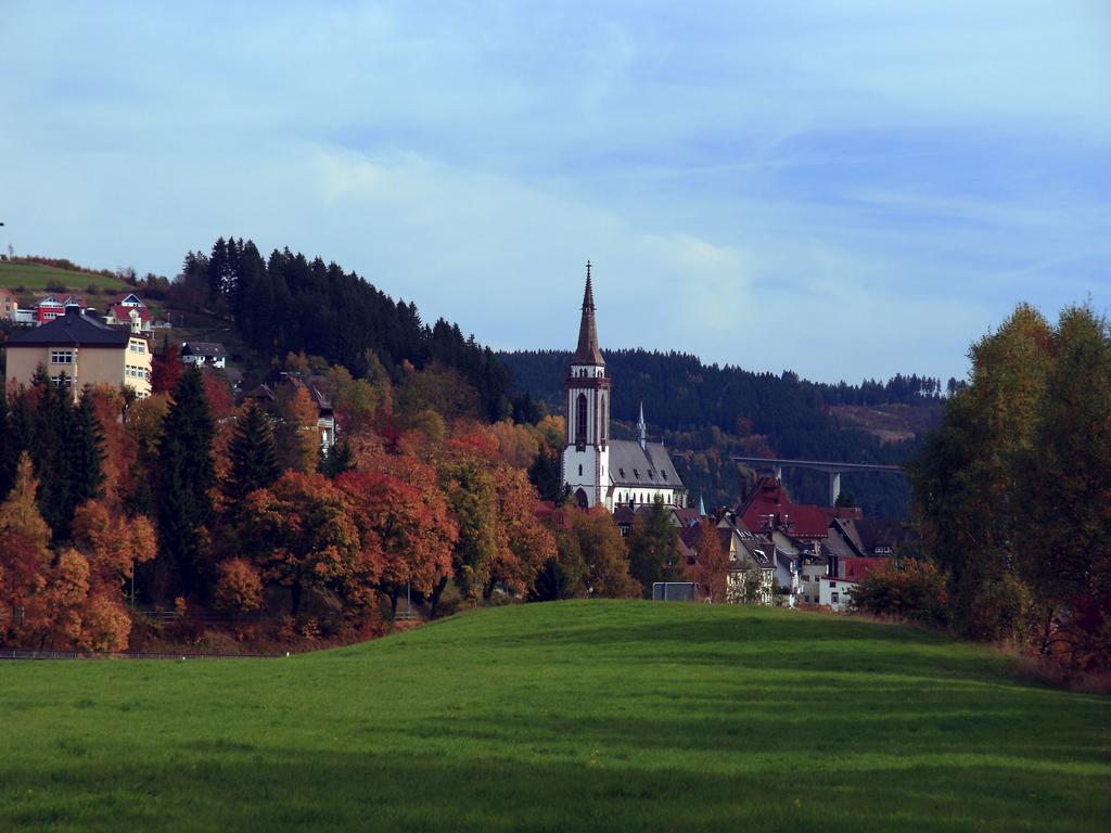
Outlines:
[[201, 372], [189, 368], [173, 390], [159, 442], [158, 531], [154, 588], [162, 595], [177, 578], [182, 595], [201, 586], [207, 565], [204, 524], [212, 514], [209, 490], [216, 483], [212, 465], [214, 428]]

